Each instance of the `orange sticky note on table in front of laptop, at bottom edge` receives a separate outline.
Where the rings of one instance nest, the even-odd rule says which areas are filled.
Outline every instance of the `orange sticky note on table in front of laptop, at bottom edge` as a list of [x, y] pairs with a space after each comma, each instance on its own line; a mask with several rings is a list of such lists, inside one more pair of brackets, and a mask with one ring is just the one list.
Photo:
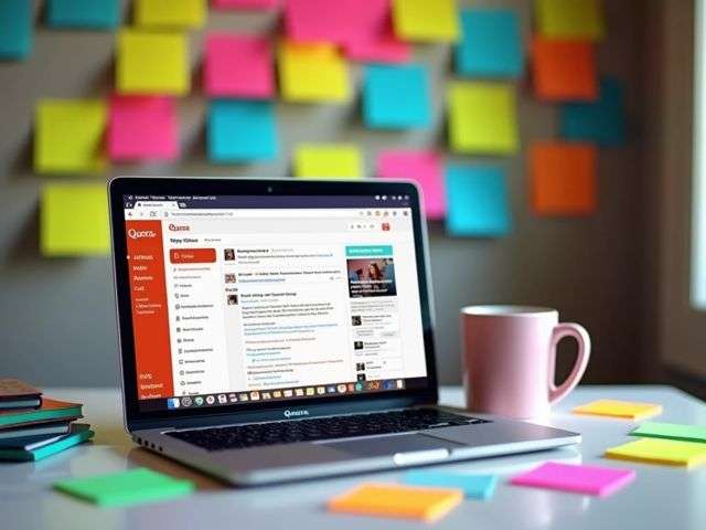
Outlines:
[[463, 500], [463, 491], [386, 484], [364, 484], [329, 501], [329, 510], [360, 516], [436, 521]]

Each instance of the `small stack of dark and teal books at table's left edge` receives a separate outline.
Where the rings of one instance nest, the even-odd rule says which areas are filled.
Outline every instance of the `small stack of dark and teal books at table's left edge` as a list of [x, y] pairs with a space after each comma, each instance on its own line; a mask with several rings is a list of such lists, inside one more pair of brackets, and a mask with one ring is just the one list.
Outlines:
[[0, 379], [0, 460], [39, 460], [90, 439], [90, 425], [74, 423], [82, 409], [44, 398], [17, 379]]

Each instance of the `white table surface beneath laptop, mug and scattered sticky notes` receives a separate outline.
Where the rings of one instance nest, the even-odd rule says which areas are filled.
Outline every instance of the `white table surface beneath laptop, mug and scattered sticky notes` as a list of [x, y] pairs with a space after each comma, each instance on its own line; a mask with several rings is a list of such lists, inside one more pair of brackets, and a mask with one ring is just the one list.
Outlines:
[[[331, 515], [325, 500], [364, 481], [395, 483], [402, 471], [306, 481], [255, 489], [231, 489], [146, 449], [135, 446], [122, 428], [119, 393], [114, 389], [46, 389], [46, 395], [85, 403], [86, 421], [94, 425], [92, 444], [68, 449], [38, 463], [0, 464], [0, 528], [15, 529], [149, 529], [213, 530], [334, 528], [425, 528], [421, 522], [386, 518]], [[494, 473], [500, 481], [488, 501], [466, 500], [435, 529], [706, 529], [706, 466], [693, 470], [667, 466], [607, 460], [607, 447], [629, 442], [632, 422], [569, 414], [573, 406], [599, 398], [648, 401], [664, 405], [661, 421], [706, 425], [706, 404], [668, 386], [584, 386], [553, 413], [549, 423], [582, 434], [576, 449], [490, 458], [436, 466]], [[460, 388], [445, 388], [441, 401], [460, 405]], [[596, 497], [523, 488], [509, 478], [546, 460], [595, 463], [629, 467], [638, 478], [613, 496]], [[54, 492], [51, 485], [71, 477], [147, 466], [193, 479], [197, 491], [172, 501], [99, 509]]]

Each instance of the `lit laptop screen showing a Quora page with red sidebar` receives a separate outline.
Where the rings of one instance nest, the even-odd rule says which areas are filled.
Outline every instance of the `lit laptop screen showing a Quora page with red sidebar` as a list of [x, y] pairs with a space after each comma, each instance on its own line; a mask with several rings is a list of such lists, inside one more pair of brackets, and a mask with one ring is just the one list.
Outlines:
[[122, 203], [140, 411], [427, 385], [409, 197]]

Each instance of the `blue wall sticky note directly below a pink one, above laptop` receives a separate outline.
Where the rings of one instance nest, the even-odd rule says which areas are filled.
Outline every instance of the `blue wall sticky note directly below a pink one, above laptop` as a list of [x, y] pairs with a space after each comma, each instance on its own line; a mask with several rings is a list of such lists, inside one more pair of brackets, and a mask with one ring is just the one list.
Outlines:
[[279, 142], [271, 102], [214, 99], [208, 107], [207, 129], [212, 162], [277, 158]]

